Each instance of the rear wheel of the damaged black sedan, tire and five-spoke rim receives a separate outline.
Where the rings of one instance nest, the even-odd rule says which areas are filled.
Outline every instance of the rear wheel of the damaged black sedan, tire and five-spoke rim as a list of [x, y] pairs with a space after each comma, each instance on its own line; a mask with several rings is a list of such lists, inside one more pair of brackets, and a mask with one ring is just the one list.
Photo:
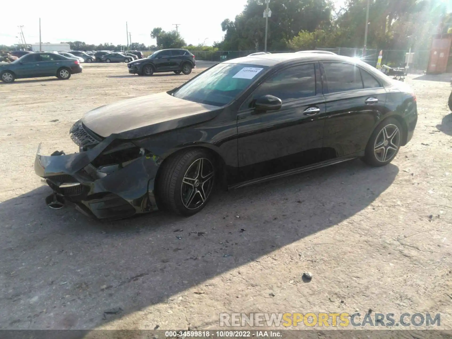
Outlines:
[[373, 131], [366, 146], [364, 162], [373, 167], [389, 164], [402, 144], [402, 127], [395, 118], [381, 122]]

